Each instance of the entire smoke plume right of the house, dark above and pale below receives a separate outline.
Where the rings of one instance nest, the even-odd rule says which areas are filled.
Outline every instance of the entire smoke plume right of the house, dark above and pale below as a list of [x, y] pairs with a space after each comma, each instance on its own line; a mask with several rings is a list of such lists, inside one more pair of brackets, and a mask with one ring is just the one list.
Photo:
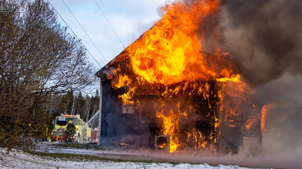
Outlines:
[[233, 56], [245, 82], [257, 87], [252, 100], [260, 106], [276, 105], [266, 116], [261, 156], [270, 154], [300, 168], [299, 160], [285, 158], [302, 158], [302, 1], [225, 0], [222, 4], [216, 20], [222, 51]]

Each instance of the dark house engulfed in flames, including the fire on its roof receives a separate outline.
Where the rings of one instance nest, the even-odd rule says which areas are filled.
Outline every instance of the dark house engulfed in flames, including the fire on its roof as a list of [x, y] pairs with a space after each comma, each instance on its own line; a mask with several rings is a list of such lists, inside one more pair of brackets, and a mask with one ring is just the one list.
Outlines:
[[[182, 2], [96, 75], [101, 144], [238, 152], [261, 144], [264, 111], [227, 53], [203, 51], [217, 1]], [[214, 54], [213, 54], [214, 53]]]

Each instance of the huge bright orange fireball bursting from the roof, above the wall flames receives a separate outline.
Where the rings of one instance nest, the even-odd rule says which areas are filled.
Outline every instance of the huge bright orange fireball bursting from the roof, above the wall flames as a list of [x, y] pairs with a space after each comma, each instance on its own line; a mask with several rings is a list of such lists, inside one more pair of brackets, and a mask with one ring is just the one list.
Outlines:
[[[224, 66], [221, 55], [208, 59], [200, 52], [203, 40], [196, 32], [200, 32], [205, 17], [217, 15], [218, 3], [218, 0], [193, 0], [187, 5], [182, 1], [165, 6], [163, 10], [167, 13], [162, 20], [129, 46], [134, 72], [148, 82], [162, 84], [215, 78], [225, 81], [221, 76], [239, 79]], [[215, 62], [219, 61], [223, 68], [216, 67]]]

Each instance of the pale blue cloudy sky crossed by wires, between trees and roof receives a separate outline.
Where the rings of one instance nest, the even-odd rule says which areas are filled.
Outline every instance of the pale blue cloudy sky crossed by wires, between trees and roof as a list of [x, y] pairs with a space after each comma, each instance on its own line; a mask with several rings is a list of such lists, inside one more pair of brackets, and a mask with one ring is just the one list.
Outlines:
[[[129, 46], [141, 34], [151, 28], [162, 15], [158, 10], [159, 7], [173, 0], [95, 0], [123, 45], [94, 0], [64, 0], [107, 61], [82, 30], [63, 0], [49, 1], [76, 36], [82, 40], [84, 46], [94, 56], [99, 65], [103, 67], [107, 64], [107, 61], [111, 61], [123, 51], [123, 45], [124, 47]], [[66, 26], [59, 16], [58, 21], [61, 25]], [[90, 60], [96, 68], [101, 68], [93, 57]]]

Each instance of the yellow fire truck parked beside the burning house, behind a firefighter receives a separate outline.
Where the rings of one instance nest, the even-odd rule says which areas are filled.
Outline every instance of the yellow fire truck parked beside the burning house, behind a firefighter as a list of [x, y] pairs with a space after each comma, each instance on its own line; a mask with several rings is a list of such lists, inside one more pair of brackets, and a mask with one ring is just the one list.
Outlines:
[[51, 132], [50, 140], [58, 141], [64, 140], [64, 131], [68, 121], [72, 121], [76, 126], [76, 135], [74, 139], [78, 142], [91, 142], [92, 129], [86, 125], [80, 115], [63, 115], [56, 117], [54, 130]]

